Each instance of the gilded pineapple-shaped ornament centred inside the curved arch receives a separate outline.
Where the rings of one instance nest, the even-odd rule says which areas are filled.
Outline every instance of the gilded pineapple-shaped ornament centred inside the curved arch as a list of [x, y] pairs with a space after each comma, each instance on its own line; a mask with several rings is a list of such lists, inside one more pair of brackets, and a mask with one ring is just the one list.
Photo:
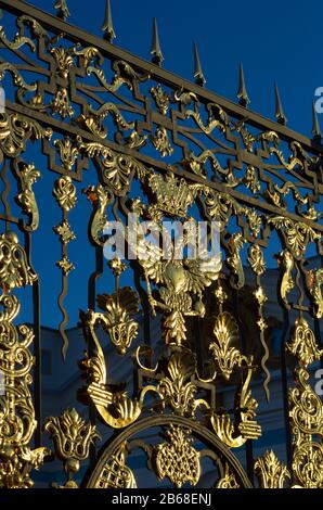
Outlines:
[[166, 443], [155, 447], [158, 480], [168, 477], [177, 488], [185, 483], [196, 485], [201, 476], [199, 452], [192, 446], [191, 431], [170, 425], [165, 432]]

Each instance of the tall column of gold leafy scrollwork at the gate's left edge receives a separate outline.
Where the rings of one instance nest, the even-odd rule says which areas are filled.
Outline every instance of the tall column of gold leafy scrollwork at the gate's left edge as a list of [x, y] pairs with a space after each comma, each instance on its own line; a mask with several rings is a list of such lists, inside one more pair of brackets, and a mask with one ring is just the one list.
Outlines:
[[15, 326], [20, 302], [10, 292], [37, 279], [26, 253], [13, 232], [0, 238], [0, 371], [4, 374], [4, 394], [0, 396], [0, 487], [28, 488], [34, 485], [29, 473], [39, 469], [50, 450], [31, 449], [29, 444], [37, 426], [29, 385], [34, 356], [29, 347], [31, 328]]

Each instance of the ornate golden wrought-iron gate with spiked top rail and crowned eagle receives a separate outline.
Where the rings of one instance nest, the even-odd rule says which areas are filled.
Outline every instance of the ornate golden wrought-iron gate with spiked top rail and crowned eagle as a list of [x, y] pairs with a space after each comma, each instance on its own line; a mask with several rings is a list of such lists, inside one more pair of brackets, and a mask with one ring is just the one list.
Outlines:
[[[310, 140], [286, 127], [277, 90], [277, 123], [248, 110], [242, 69], [238, 104], [209, 92], [196, 48], [195, 84], [164, 71], [156, 25], [153, 63], [120, 50], [112, 44], [108, 2], [104, 39], [69, 25], [65, 0], [55, 3], [59, 17], [20, 0], [1, 0], [0, 7], [7, 94], [0, 117], [0, 486], [33, 486], [33, 470], [53, 458], [44, 431], [64, 463], [65, 487], [135, 487], [128, 457], [140, 449], [156, 484], [201, 484], [210, 462], [214, 487], [322, 488], [323, 408], [309, 381], [323, 354], [323, 160], [314, 111]], [[86, 347], [78, 399], [89, 406], [89, 420], [70, 408], [47, 419], [41, 411], [39, 305], [52, 283], [33, 264], [31, 240], [49, 220], [40, 214], [46, 199], [37, 193], [37, 154], [47, 157], [42, 175], [53, 179], [62, 215], [48, 229], [54, 228], [62, 251], [56, 270], [64, 358], [72, 272], [79, 271], [79, 289], [88, 289], [88, 303], [78, 303]], [[87, 199], [82, 231], [88, 229], [95, 258], [89, 282], [85, 268], [69, 259], [69, 243], [77, 242], [73, 221]], [[205, 269], [199, 258], [179, 259], [172, 242], [169, 258], [158, 246], [145, 258], [139, 235], [137, 259], [115, 258], [106, 267], [102, 229], [107, 219], [127, 225], [129, 213], [139, 218], [138, 231], [145, 219], [160, 228], [167, 218], [192, 226], [217, 220], [222, 262], [208, 260]], [[81, 235], [79, 243], [82, 250]], [[269, 267], [274, 256], [279, 269]], [[96, 299], [105, 273], [115, 291]], [[268, 275], [271, 281], [279, 277], [274, 296], [263, 283]], [[121, 284], [127, 280], [131, 285]], [[20, 290], [28, 286], [31, 293]], [[33, 303], [33, 320], [16, 326], [23, 298], [30, 309]], [[271, 398], [269, 298], [283, 317], [276, 370], [286, 466], [272, 450], [253, 455], [267, 433], [255, 388], [262, 386]], [[133, 361], [133, 381], [109, 379], [113, 349], [119, 366]], [[99, 429], [106, 438], [98, 452]], [[245, 468], [236, 454], [242, 448]], [[88, 471], [79, 476], [87, 459]]]

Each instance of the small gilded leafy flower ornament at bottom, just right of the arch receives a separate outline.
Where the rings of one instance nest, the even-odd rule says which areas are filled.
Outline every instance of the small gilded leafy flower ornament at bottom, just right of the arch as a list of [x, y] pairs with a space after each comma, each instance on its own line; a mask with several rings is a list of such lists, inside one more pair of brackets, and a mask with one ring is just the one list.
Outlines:
[[284, 488], [286, 481], [290, 479], [289, 471], [272, 450], [257, 459], [255, 473], [261, 488]]

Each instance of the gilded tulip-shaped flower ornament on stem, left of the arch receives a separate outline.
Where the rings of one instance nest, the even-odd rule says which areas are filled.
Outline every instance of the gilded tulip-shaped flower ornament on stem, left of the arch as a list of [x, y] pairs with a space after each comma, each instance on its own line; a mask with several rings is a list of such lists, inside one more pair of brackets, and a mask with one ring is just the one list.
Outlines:
[[89, 457], [91, 444], [100, 438], [95, 426], [86, 423], [76, 409], [67, 409], [60, 417], [48, 418], [43, 429], [54, 443], [56, 456], [64, 462], [67, 480], [61, 488], [77, 488], [73, 477], [80, 462]]

